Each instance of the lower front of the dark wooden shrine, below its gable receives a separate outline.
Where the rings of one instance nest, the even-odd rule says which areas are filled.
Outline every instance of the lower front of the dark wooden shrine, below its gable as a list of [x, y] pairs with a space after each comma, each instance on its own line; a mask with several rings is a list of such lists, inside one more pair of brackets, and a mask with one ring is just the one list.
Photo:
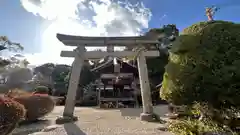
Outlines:
[[[121, 82], [117, 84], [115, 82], [118, 77], [121, 79]], [[97, 84], [100, 108], [135, 107], [138, 104], [137, 98], [134, 97], [135, 89], [131, 87], [133, 82], [131, 73], [119, 73], [108, 77], [102, 75], [101, 81], [103, 83]]]

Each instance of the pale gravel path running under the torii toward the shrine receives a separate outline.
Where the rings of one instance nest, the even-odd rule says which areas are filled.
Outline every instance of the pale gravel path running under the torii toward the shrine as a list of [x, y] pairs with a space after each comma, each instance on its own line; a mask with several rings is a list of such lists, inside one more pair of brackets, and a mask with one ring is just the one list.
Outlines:
[[[140, 121], [141, 110], [76, 107], [75, 115], [79, 117], [79, 121], [55, 125], [54, 120], [63, 111], [63, 107], [56, 107], [46, 117], [50, 121], [22, 126], [16, 129], [13, 135], [171, 135], [158, 130], [159, 123]], [[157, 106], [154, 110], [160, 116], [167, 113], [167, 107], [164, 105]]]

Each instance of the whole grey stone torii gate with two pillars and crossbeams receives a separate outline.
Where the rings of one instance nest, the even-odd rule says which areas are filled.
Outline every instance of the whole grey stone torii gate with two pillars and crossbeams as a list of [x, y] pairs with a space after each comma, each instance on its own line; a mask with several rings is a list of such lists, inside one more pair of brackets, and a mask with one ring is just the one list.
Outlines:
[[[83, 37], [83, 36], [70, 36], [57, 34], [57, 38], [66, 46], [76, 46], [74, 51], [62, 51], [62, 57], [74, 57], [72, 64], [72, 71], [68, 86], [66, 104], [63, 112], [63, 117], [58, 118], [58, 123], [70, 122], [77, 120], [74, 116], [75, 97], [80, 79], [80, 73], [85, 59], [103, 58], [106, 56], [112, 57], [129, 57], [138, 56], [138, 72], [140, 80], [140, 88], [143, 103], [143, 112], [140, 115], [143, 121], [154, 120], [154, 112], [151, 99], [151, 91], [148, 79], [148, 71], [145, 57], [157, 57], [159, 51], [142, 51], [140, 54], [133, 51], [114, 51], [114, 46], [128, 46], [135, 47], [137, 45], [153, 45], [159, 44], [159, 41], [150, 39], [146, 36], [133, 36], [133, 37]], [[86, 51], [85, 47], [107, 47], [107, 52], [99, 51]], [[61, 122], [62, 121], [62, 122]]]

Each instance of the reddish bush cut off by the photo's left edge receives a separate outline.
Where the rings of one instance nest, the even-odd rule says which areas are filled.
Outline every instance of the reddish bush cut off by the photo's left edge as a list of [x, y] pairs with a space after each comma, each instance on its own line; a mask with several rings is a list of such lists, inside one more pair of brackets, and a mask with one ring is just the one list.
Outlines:
[[25, 117], [25, 108], [20, 103], [0, 97], [0, 135], [10, 134]]

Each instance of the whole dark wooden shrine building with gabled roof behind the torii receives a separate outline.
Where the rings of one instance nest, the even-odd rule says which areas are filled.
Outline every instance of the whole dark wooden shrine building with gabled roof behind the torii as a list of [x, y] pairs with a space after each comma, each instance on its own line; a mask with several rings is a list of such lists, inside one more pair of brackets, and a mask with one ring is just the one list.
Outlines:
[[106, 59], [107, 62], [91, 70], [100, 74], [95, 83], [99, 107], [139, 107], [140, 87], [137, 68], [119, 58]]

